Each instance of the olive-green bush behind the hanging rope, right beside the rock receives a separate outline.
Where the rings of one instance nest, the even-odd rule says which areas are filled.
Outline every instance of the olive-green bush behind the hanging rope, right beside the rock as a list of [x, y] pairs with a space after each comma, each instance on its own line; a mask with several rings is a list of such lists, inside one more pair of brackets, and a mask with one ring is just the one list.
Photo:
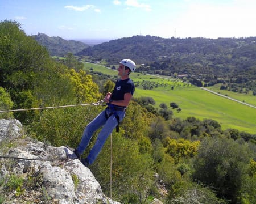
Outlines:
[[[113, 198], [121, 198], [122, 203], [128, 203], [127, 199], [133, 195], [138, 203], [142, 203], [147, 197], [148, 187], [153, 184], [152, 158], [149, 154], [141, 154], [137, 143], [123, 137], [121, 132], [112, 134]], [[109, 195], [110, 137], [91, 169], [96, 178], [101, 180], [105, 194]]]

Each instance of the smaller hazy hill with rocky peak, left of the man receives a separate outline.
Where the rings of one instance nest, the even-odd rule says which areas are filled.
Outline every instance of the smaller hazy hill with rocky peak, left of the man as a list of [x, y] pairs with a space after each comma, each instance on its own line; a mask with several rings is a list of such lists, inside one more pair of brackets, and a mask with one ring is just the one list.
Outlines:
[[51, 55], [55, 56], [65, 56], [67, 53], [76, 54], [89, 46], [80, 41], [49, 37], [44, 33], [38, 33], [38, 35], [31, 37], [38, 41], [40, 45], [45, 46]]

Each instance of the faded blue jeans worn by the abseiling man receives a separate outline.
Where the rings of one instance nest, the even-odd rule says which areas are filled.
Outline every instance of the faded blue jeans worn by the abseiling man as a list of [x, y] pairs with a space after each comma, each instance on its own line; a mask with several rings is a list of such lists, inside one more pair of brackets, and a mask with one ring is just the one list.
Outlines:
[[[101, 151], [106, 139], [109, 137], [110, 133], [112, 133], [115, 126], [117, 126], [117, 118], [115, 118], [114, 114], [112, 114], [109, 118], [106, 118], [105, 111], [109, 116], [111, 111], [109, 108], [102, 111], [96, 118], [94, 118], [84, 129], [84, 133], [82, 134], [81, 142], [77, 147], [77, 152], [81, 155], [85, 148], [89, 145], [90, 139], [92, 139], [93, 133], [102, 127], [98, 137], [96, 139], [95, 145], [92, 150], [90, 150], [89, 155], [87, 156], [87, 160], [89, 164], [92, 164], [94, 160], [97, 158], [98, 154]], [[119, 116], [121, 122], [125, 117], [125, 112], [116, 111]]]

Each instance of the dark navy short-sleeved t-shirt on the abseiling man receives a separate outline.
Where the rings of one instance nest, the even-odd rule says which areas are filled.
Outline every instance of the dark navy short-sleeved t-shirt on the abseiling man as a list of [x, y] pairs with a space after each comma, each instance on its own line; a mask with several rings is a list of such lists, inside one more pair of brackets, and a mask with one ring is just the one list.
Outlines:
[[133, 81], [128, 78], [125, 80], [118, 79], [115, 83], [114, 90], [112, 92], [112, 100], [124, 100], [126, 93], [131, 93], [133, 95], [135, 86]]

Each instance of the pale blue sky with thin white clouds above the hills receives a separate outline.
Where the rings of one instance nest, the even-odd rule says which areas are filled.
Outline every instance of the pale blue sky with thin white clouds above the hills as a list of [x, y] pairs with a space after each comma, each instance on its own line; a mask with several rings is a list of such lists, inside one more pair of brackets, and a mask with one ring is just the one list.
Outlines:
[[64, 39], [256, 36], [255, 0], [0, 0], [0, 21]]

